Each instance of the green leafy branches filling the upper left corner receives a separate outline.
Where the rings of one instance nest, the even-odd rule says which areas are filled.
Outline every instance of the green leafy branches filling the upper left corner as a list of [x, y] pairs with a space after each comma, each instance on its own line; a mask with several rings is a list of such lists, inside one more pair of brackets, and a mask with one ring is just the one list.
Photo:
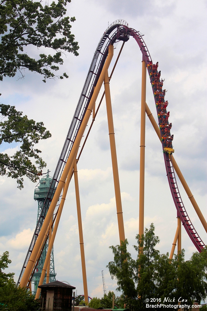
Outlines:
[[[0, 2], [0, 81], [3, 77], [14, 77], [16, 72], [29, 69], [38, 72], [46, 78], [68, 77], [66, 73], [56, 76], [62, 65], [61, 55], [65, 52], [78, 55], [78, 43], [71, 34], [70, 22], [75, 17], [63, 17], [66, 14], [66, 5], [71, 0], [54, 1], [51, 5], [42, 6], [42, 1], [31, 0], [2, 0]], [[25, 53], [27, 46], [50, 48], [55, 54], [39, 54], [34, 59]], [[28, 49], [27, 49], [28, 51]]]

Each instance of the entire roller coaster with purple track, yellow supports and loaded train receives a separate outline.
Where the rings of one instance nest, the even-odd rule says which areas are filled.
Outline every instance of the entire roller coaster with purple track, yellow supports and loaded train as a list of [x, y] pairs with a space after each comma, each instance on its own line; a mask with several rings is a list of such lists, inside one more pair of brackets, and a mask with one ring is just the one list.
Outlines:
[[[70, 128], [65, 139], [63, 149], [61, 151], [60, 158], [58, 160], [55, 173], [50, 184], [47, 197], [44, 201], [43, 209], [39, 217], [33, 239], [31, 241], [28, 253], [25, 258], [24, 265], [22, 267], [18, 284], [21, 287], [30, 287], [32, 276], [34, 275], [35, 268], [38, 264], [38, 258], [41, 256], [41, 251], [50, 235], [48, 243], [47, 255], [45, 258], [42, 274], [40, 277], [39, 285], [43, 284], [45, 273], [47, 271], [48, 262], [50, 260], [50, 254], [54, 243], [56, 231], [61, 217], [61, 211], [64, 206], [67, 190], [70, 184], [72, 175], [74, 174], [75, 181], [75, 193], [78, 213], [78, 225], [79, 225], [79, 239], [80, 239], [80, 251], [81, 251], [81, 263], [83, 273], [83, 289], [85, 301], [88, 301], [88, 287], [86, 278], [86, 267], [85, 267], [85, 255], [84, 255], [84, 244], [83, 244], [83, 230], [81, 221], [81, 210], [80, 210], [80, 197], [79, 197], [79, 184], [78, 184], [78, 171], [77, 162], [82, 154], [83, 147], [85, 146], [86, 140], [96, 118], [98, 109], [101, 105], [101, 101], [106, 98], [106, 111], [109, 128], [109, 139], [110, 139], [110, 151], [112, 160], [112, 170], [115, 187], [115, 200], [117, 209], [119, 239], [124, 241], [124, 221], [123, 211], [121, 204], [121, 194], [119, 186], [119, 172], [116, 157], [116, 146], [115, 146], [115, 133], [113, 124], [113, 115], [111, 108], [110, 98], [110, 79], [114, 72], [115, 66], [118, 62], [120, 53], [124, 47], [124, 44], [133, 37], [141, 52], [142, 52], [142, 88], [141, 88], [141, 137], [140, 137], [140, 189], [139, 189], [139, 234], [144, 234], [144, 175], [145, 175], [145, 119], [146, 115], [151, 121], [155, 132], [157, 133], [159, 140], [162, 144], [162, 150], [164, 155], [164, 164], [167, 172], [167, 179], [170, 187], [170, 191], [173, 197], [173, 201], [177, 210], [178, 227], [176, 229], [175, 238], [173, 241], [172, 250], [169, 259], [173, 258], [175, 246], [178, 244], [178, 252], [181, 251], [181, 224], [185, 228], [188, 236], [192, 243], [195, 245], [199, 252], [205, 247], [204, 242], [198, 235], [194, 228], [187, 211], [182, 202], [180, 192], [178, 190], [178, 184], [175, 177], [175, 172], [180, 179], [182, 186], [184, 187], [205, 231], [207, 232], [207, 223], [202, 215], [200, 208], [198, 207], [195, 198], [193, 197], [174, 157], [173, 149], [173, 135], [171, 134], [172, 123], [169, 122], [170, 112], [167, 111], [169, 103], [165, 100], [166, 90], [164, 89], [164, 80], [161, 79], [161, 71], [158, 69], [158, 62], [153, 64], [149, 50], [143, 40], [143, 35], [140, 31], [136, 31], [133, 28], [129, 28], [126, 21], [117, 20], [113, 22], [104, 32], [101, 40], [94, 53], [92, 63], [90, 65], [86, 81], [83, 86]], [[113, 70], [108, 75], [108, 68], [113, 58], [114, 47], [113, 44], [118, 41], [123, 41], [122, 47], [119, 51], [119, 55], [115, 61]], [[148, 105], [146, 104], [146, 72], [150, 77], [150, 83], [152, 92], [155, 100], [155, 108], [158, 117], [158, 124], [155, 121]], [[96, 100], [104, 83], [104, 93], [101, 97], [100, 103], [96, 108]], [[85, 140], [80, 148], [81, 139], [83, 133], [88, 124], [89, 118], [92, 115], [92, 122], [89, 127], [88, 133]], [[62, 196], [61, 196], [62, 194]], [[57, 206], [58, 200], [60, 204], [55, 217], [53, 219], [53, 213]], [[52, 230], [53, 227], [53, 230]], [[52, 235], [49, 232], [52, 230]], [[36, 293], [36, 299], [39, 298], [40, 288]]]

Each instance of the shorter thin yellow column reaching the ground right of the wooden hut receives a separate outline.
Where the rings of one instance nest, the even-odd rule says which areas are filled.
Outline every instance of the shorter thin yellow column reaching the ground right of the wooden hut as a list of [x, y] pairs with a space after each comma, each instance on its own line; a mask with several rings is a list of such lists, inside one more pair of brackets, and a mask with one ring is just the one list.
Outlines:
[[84, 244], [83, 244], [83, 228], [82, 228], [82, 220], [81, 220], [78, 170], [77, 170], [76, 160], [74, 161], [74, 180], [75, 180], [75, 196], [76, 196], [76, 205], [77, 205], [77, 214], [78, 214], [80, 256], [81, 256], [81, 265], [82, 265], [82, 274], [83, 274], [84, 300], [85, 302], [88, 302], [88, 286], [87, 286], [87, 277], [86, 277], [86, 263], [85, 263]]

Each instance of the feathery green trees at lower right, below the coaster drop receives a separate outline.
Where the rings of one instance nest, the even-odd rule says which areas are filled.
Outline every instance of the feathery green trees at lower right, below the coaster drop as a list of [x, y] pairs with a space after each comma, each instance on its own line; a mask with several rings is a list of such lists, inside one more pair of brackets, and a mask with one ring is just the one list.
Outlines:
[[[124, 294], [124, 302], [131, 310], [145, 310], [146, 299], [187, 299], [189, 305], [193, 301], [205, 300], [207, 297], [207, 248], [201, 253], [193, 253], [190, 260], [184, 260], [184, 249], [169, 261], [169, 253], [160, 254], [155, 249], [159, 237], [155, 236], [155, 227], [151, 224], [145, 234], [136, 236], [137, 259], [133, 260], [127, 252], [127, 240], [110, 248], [114, 261], [109, 262], [109, 272], [117, 280], [118, 288]], [[139, 246], [143, 253], [139, 253]], [[173, 300], [172, 300], [173, 301]], [[160, 308], [158, 308], [160, 310]], [[157, 310], [158, 310], [157, 309]]]

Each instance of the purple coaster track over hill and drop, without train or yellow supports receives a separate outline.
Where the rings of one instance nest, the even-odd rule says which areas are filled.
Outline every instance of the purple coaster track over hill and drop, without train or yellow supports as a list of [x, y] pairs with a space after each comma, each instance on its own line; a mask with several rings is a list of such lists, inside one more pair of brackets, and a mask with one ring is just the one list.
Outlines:
[[[59, 180], [61, 178], [61, 174], [63, 172], [63, 169], [65, 167], [67, 159], [70, 155], [70, 151], [72, 149], [75, 138], [76, 138], [77, 133], [79, 131], [79, 128], [80, 128], [80, 125], [82, 123], [83, 117], [85, 115], [86, 109], [87, 109], [88, 104], [91, 100], [93, 90], [94, 90], [94, 86], [96, 86], [96, 84], [97, 84], [98, 78], [101, 74], [101, 70], [103, 68], [106, 57], [108, 55], [108, 47], [110, 44], [114, 44], [116, 41], [119, 40], [120, 34], [123, 34], [125, 36], [125, 39], [126, 39], [125, 41], [128, 41], [130, 36], [132, 36], [137, 41], [137, 44], [139, 45], [139, 48], [142, 52], [142, 58], [147, 65], [152, 61], [150, 53], [149, 53], [149, 51], [146, 47], [146, 44], [142, 38], [143, 35], [140, 33], [140, 31], [136, 31], [133, 28], [129, 28], [126, 21], [117, 20], [117, 21], [113, 22], [104, 32], [103, 36], [101, 37], [101, 40], [99, 41], [97, 49], [94, 53], [92, 63], [90, 65], [90, 68], [89, 68], [89, 71], [88, 71], [88, 74], [87, 74], [87, 77], [86, 77], [86, 80], [85, 80], [85, 83], [84, 83], [84, 86], [83, 86], [83, 89], [82, 89], [82, 92], [81, 92], [81, 95], [80, 95], [80, 98], [79, 98], [79, 101], [77, 104], [77, 107], [75, 109], [75, 113], [74, 113], [72, 122], [70, 124], [69, 131], [68, 131], [66, 139], [65, 139], [64, 146], [63, 146], [62, 151], [61, 151], [61, 155], [59, 157], [59, 160], [58, 160], [58, 163], [57, 163], [57, 166], [55, 169], [55, 173], [53, 175], [53, 179], [52, 179], [52, 183], [50, 185], [50, 189], [48, 191], [47, 197], [46, 197], [44, 205], [43, 205], [42, 213], [39, 217], [37, 226], [35, 228], [34, 235], [33, 235], [31, 244], [29, 246], [29, 249], [28, 249], [28, 252], [27, 252], [27, 255], [25, 258], [25, 262], [24, 262], [24, 265], [22, 267], [22, 270], [21, 270], [17, 284], [20, 283], [22, 275], [25, 271], [25, 267], [28, 263], [30, 254], [34, 248], [35, 241], [38, 237], [41, 226], [43, 224], [43, 221], [44, 221], [45, 216], [47, 214], [48, 208], [50, 206], [50, 202], [52, 201], [52, 196], [54, 194], [54, 190], [56, 189], [56, 186], [59, 183]], [[122, 40], [123, 40], [123, 38], [122, 38]], [[148, 72], [150, 75], [150, 70], [149, 70], [148, 66], [147, 66], [147, 69], [148, 69]], [[154, 95], [155, 90], [153, 87], [152, 79], [150, 79], [150, 81], [151, 81], [152, 91], [153, 91], [153, 95]], [[156, 99], [155, 99], [155, 104], [156, 104]], [[159, 112], [158, 112], [157, 105], [156, 105], [156, 109], [157, 109], [157, 114], [158, 114]], [[161, 129], [160, 129], [160, 133], [161, 133]], [[161, 135], [162, 135], [162, 133], [161, 133]], [[164, 151], [163, 142], [162, 142], [162, 146], [163, 146], [163, 151]], [[172, 193], [172, 197], [173, 197], [175, 207], [177, 209], [177, 214], [180, 217], [182, 225], [184, 226], [184, 228], [185, 228], [187, 234], [189, 235], [191, 241], [193, 242], [193, 244], [195, 245], [197, 250], [199, 252], [201, 252], [201, 250], [205, 247], [205, 244], [200, 239], [200, 237], [199, 237], [198, 233], [196, 232], [190, 218], [188, 217], [187, 211], [184, 207], [184, 204], [182, 202], [182, 199], [181, 199], [181, 196], [180, 196], [180, 193], [178, 190], [178, 185], [176, 182], [172, 161], [169, 159], [169, 155], [165, 152], [164, 152], [164, 163], [165, 163], [165, 167], [166, 167], [169, 187], [170, 187], [170, 190]]]

